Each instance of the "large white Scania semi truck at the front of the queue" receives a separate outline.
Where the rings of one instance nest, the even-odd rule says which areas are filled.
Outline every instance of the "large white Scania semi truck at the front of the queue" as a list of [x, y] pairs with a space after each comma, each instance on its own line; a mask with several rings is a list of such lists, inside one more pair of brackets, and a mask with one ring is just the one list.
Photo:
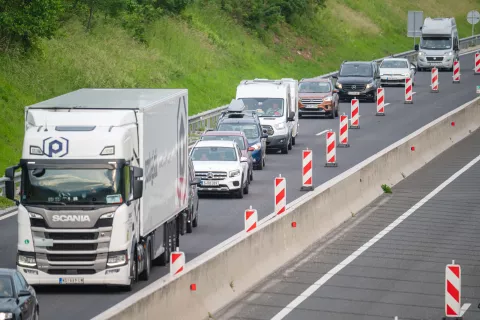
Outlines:
[[148, 280], [188, 204], [186, 89], [81, 89], [25, 108], [17, 268], [32, 285]]

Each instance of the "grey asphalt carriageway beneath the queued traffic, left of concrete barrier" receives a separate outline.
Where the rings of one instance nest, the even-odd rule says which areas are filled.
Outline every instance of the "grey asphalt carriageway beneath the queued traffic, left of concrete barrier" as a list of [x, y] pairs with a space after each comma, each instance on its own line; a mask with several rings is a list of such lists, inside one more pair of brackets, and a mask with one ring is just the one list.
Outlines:
[[[360, 129], [349, 130], [350, 148], [337, 148], [338, 167], [325, 168], [325, 135], [317, 133], [327, 129], [337, 132], [339, 119], [304, 118], [300, 120], [297, 144], [288, 155], [269, 154], [264, 170], [254, 171], [250, 193], [244, 199], [228, 197], [202, 198], [200, 200], [199, 226], [192, 234], [180, 239], [180, 249], [186, 259], [191, 260], [214, 247], [244, 228], [243, 210], [250, 205], [257, 209], [259, 219], [274, 210], [273, 179], [281, 174], [287, 179], [287, 202], [303, 194], [301, 187], [301, 150], [312, 149], [313, 183], [315, 186], [328, 181], [339, 173], [351, 168], [388, 145], [421, 128], [439, 116], [455, 109], [476, 97], [476, 85], [480, 77], [473, 75], [472, 54], [461, 57], [462, 81], [452, 83], [451, 72], [439, 72], [440, 92], [430, 92], [430, 73], [418, 72], [414, 86], [413, 104], [404, 104], [404, 88], [386, 88], [386, 116], [375, 116], [375, 103], [360, 102]], [[350, 104], [343, 103], [340, 113], [349, 114]], [[1, 218], [0, 218], [1, 219]], [[17, 223], [11, 217], [0, 220], [0, 267], [15, 267]], [[168, 267], [155, 267], [151, 280], [168, 273]], [[148, 282], [148, 283], [150, 283]], [[148, 285], [141, 282], [136, 291]], [[53, 287], [39, 288], [42, 318], [56, 320], [91, 319], [125, 299], [127, 293], [98, 287]]]

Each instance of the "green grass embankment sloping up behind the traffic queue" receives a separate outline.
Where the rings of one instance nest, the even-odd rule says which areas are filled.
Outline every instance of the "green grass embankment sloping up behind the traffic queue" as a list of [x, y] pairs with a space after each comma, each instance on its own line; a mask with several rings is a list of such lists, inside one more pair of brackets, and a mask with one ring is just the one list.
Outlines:
[[0, 55], [0, 176], [20, 157], [25, 105], [82, 87], [181, 87], [189, 89], [193, 115], [228, 103], [242, 79], [300, 79], [336, 70], [342, 60], [410, 50], [408, 10], [455, 16], [466, 37], [465, 15], [474, 7], [475, 0], [328, 0], [316, 20], [279, 26], [260, 40], [202, 3], [154, 23], [148, 46], [102, 17], [90, 34], [71, 20], [57, 37], [41, 41], [42, 54]]

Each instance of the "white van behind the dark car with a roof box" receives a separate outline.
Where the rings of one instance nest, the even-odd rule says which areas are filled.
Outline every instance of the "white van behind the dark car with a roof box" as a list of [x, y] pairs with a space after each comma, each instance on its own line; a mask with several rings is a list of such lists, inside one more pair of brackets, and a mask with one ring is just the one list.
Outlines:
[[262, 128], [268, 134], [267, 149], [279, 149], [287, 154], [292, 149], [294, 121], [290, 84], [281, 80], [243, 80], [237, 86], [237, 100], [242, 100], [248, 110], [257, 112]]

